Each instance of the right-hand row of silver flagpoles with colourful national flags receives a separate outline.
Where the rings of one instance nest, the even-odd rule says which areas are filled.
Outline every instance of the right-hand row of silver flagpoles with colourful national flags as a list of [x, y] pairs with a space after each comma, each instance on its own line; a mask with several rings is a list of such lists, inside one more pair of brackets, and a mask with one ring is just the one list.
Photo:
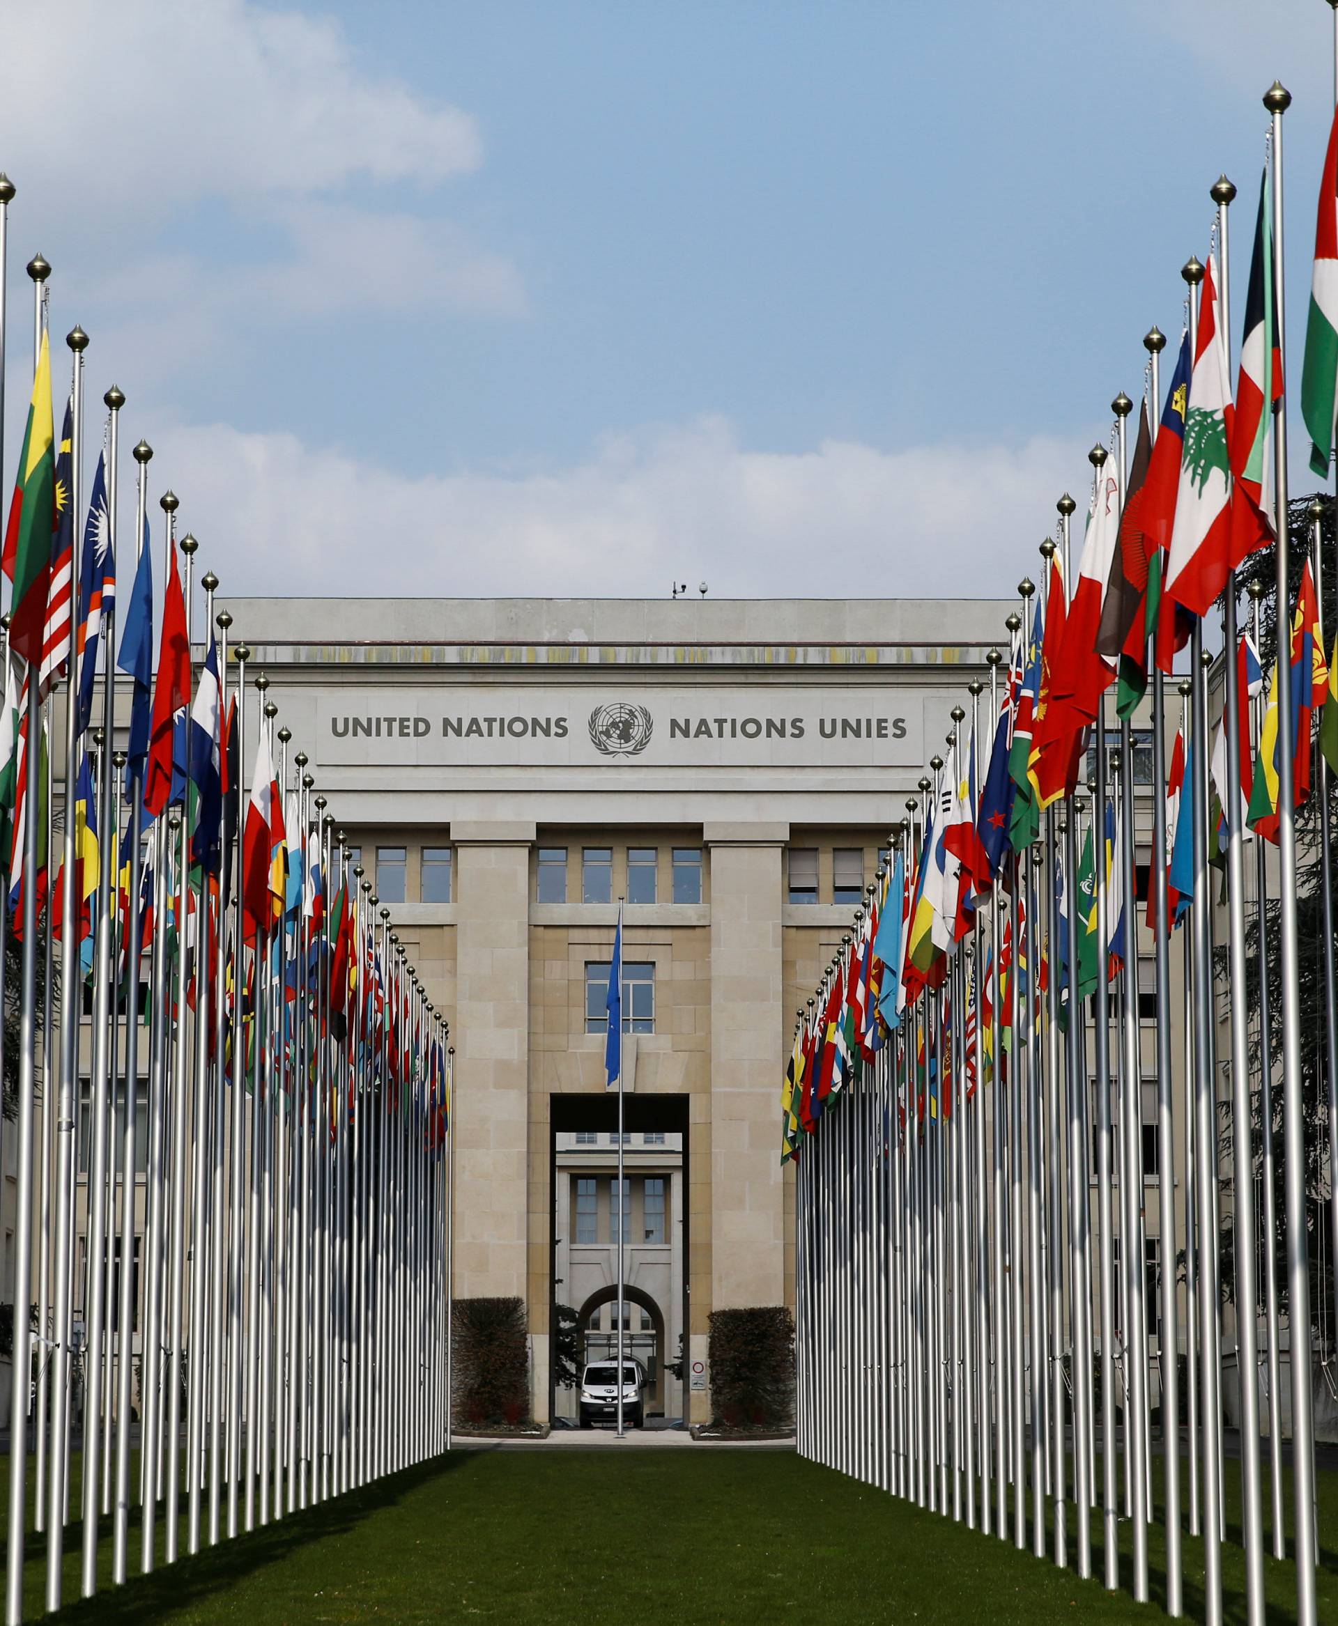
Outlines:
[[[1338, 1259], [1328, 790], [1338, 772], [1338, 642], [1330, 663], [1322, 610], [1338, 561], [1325, 571], [1322, 502], [1310, 504], [1304, 541], [1291, 537], [1281, 372], [1289, 101], [1279, 85], [1265, 96], [1266, 167], [1236, 400], [1227, 338], [1236, 187], [1223, 177], [1211, 189], [1208, 263], [1190, 259], [1182, 272], [1185, 337], [1164, 410], [1166, 340], [1153, 328], [1133, 462], [1133, 402], [1123, 393], [1112, 403], [1110, 447], [1089, 454], [1093, 501], [1076, 576], [1076, 504], [1065, 496], [1058, 545], [1042, 546], [1040, 590], [1024, 580], [1021, 610], [1008, 618], [1006, 673], [1005, 657], [990, 654], [992, 732], [982, 740], [977, 680], [969, 735], [958, 706], [946, 758], [930, 759], [867, 907], [797, 1016], [782, 1159], [798, 1163], [803, 1454], [1011, 1535], [1037, 1556], [1076, 1563], [1081, 1576], [1093, 1574], [1099, 1515], [1109, 1589], [1122, 1584], [1127, 1522], [1123, 1566], [1138, 1600], [1149, 1597], [1149, 1532], [1159, 1525], [1171, 1615], [1184, 1611], [1187, 1515], [1188, 1533], [1203, 1541], [1206, 1619], [1218, 1623], [1229, 1294], [1247, 1618], [1258, 1623], [1265, 1611], [1265, 1522], [1273, 1556], [1286, 1554], [1279, 1384], [1288, 1382], [1291, 1550], [1297, 1618], [1309, 1626], [1317, 1545], [1307, 1233], [1325, 1193], [1307, 1187], [1307, 1089], [1328, 1138], [1328, 1226], [1317, 1215], [1314, 1231], [1322, 1293]], [[1301, 397], [1314, 467], [1327, 470], [1338, 398], [1338, 117], [1318, 220]], [[1278, 659], [1265, 698], [1258, 569], [1249, 582], [1253, 626], [1244, 633], [1237, 605], [1242, 567], [1266, 550]], [[1299, 589], [1292, 551], [1305, 566]], [[1214, 605], [1223, 606], [1219, 662], [1205, 652]], [[1180, 649], [1188, 672], [1177, 681], [1179, 728], [1167, 751], [1175, 706], [1166, 676]], [[1117, 680], [1112, 740], [1106, 691]], [[1149, 798], [1138, 793], [1135, 720], [1151, 727]], [[1297, 885], [1297, 811], [1307, 803], [1317, 828], [1302, 857], [1318, 873], [1322, 963], [1309, 1072]], [[1141, 831], [1146, 927], [1135, 911]], [[1224, 919], [1214, 912], [1214, 870]], [[1266, 948], [1275, 932], [1276, 964]], [[1156, 990], [1146, 1054], [1140, 958], [1151, 963]], [[1177, 958], [1182, 1020], [1172, 1010]], [[1143, 1109], [1145, 1081], [1156, 1093], [1153, 1114]], [[1145, 1167], [1145, 1120], [1156, 1127], [1154, 1171]], [[1145, 1180], [1154, 1182], [1154, 1233]], [[1154, 1293], [1148, 1236], [1159, 1249]], [[1323, 1309], [1320, 1301], [1322, 1353]]]

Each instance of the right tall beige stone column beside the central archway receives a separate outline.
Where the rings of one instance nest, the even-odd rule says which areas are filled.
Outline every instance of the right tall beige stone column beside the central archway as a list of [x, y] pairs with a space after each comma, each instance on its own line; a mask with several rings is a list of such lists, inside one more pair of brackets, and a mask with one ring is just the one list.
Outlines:
[[710, 1307], [785, 1302], [782, 855], [788, 824], [707, 824]]

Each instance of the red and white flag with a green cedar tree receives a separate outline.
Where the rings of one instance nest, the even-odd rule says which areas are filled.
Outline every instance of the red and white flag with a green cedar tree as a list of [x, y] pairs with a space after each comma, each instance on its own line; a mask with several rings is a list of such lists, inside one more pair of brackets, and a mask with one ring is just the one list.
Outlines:
[[[1213, 255], [1203, 275], [1198, 343], [1190, 376], [1185, 449], [1175, 499], [1175, 530], [1166, 566], [1166, 595], [1190, 616], [1205, 616], [1226, 587], [1231, 554], [1232, 405], [1226, 335], [1218, 312]], [[1166, 670], [1166, 668], [1162, 668]]]

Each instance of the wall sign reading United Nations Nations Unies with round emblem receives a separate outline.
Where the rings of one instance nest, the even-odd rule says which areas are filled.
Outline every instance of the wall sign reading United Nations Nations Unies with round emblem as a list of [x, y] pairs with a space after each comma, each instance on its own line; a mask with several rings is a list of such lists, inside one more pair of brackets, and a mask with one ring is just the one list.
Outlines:
[[914, 767], [923, 698], [893, 688], [341, 689], [317, 764]]

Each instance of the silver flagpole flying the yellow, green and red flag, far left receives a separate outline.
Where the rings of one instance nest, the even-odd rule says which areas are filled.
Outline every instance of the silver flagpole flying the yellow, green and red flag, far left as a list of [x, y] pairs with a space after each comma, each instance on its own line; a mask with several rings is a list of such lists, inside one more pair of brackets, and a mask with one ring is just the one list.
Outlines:
[[[34, 363], [42, 348], [42, 285], [50, 276], [47, 262], [36, 255], [28, 263], [33, 278]], [[5, 1558], [5, 1626], [18, 1626], [23, 1618], [23, 1535], [28, 1493], [28, 1390], [33, 1364], [33, 1333], [28, 1304], [33, 1281], [33, 1101], [36, 1091], [36, 1013], [37, 1013], [37, 730], [36, 670], [28, 672], [28, 746], [24, 753], [24, 797], [28, 813], [23, 826], [23, 982], [20, 993], [20, 1081], [18, 1081], [18, 1182], [15, 1192], [15, 1315], [13, 1361], [10, 1382], [10, 1517]]]

